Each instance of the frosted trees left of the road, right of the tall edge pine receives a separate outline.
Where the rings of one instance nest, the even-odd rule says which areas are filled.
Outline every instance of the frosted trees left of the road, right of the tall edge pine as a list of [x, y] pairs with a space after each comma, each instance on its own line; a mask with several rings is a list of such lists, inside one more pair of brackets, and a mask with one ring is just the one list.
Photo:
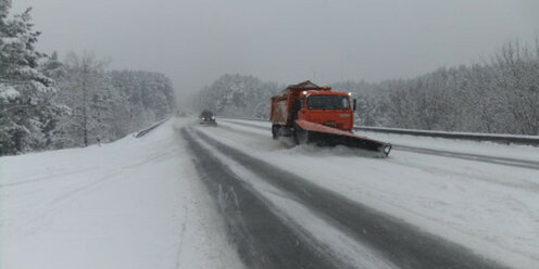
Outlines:
[[57, 149], [114, 141], [173, 111], [172, 82], [163, 74], [104, 71], [89, 52], [48, 66], [60, 66], [50, 71], [60, 89], [54, 99], [67, 106], [55, 130]]

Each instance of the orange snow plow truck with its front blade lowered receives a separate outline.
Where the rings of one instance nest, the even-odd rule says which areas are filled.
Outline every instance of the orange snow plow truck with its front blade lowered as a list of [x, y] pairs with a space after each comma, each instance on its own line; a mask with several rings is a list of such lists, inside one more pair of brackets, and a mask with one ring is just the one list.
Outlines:
[[309, 80], [290, 85], [272, 98], [274, 139], [291, 137], [296, 144], [344, 145], [387, 157], [391, 144], [353, 133], [355, 99]]

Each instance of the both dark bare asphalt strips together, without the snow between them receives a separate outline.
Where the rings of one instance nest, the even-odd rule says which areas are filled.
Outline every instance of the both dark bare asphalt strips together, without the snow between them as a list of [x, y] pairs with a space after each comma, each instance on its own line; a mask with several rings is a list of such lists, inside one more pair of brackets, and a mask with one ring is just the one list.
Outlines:
[[[220, 197], [223, 194], [220, 193], [223, 193], [224, 189], [234, 190], [234, 194], [226, 195], [234, 196], [234, 203], [231, 206], [224, 206], [233, 209], [222, 212], [229, 223], [231, 239], [248, 267], [347, 268], [353, 265], [347, 265], [347, 260], [336, 259], [323, 247], [323, 244], [302, 233], [293, 222], [277, 217], [276, 208], [261, 198], [256, 190], [245, 183], [248, 180], [242, 180], [231, 172], [211, 152], [204, 150], [201, 143], [212, 146], [246, 169], [250, 169], [270, 184], [287, 193], [290, 198], [334, 223], [353, 240], [381, 253], [398, 267], [502, 268], [493, 261], [474, 255], [471, 249], [427, 234], [399, 219], [347, 200], [290, 171], [223, 144], [202, 132], [183, 130], [183, 137], [188, 141], [196, 156], [193, 162], [197, 169], [216, 201], [222, 200]], [[268, 235], [262, 236], [261, 231]], [[293, 242], [301, 243], [293, 244]], [[298, 246], [302, 248], [297, 248]], [[288, 255], [290, 252], [296, 254]]]

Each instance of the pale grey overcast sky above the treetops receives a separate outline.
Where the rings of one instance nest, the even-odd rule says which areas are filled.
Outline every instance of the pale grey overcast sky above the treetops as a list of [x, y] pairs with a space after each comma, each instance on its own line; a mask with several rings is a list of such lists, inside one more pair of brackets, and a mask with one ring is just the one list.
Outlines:
[[95, 51], [179, 91], [225, 73], [283, 84], [378, 81], [488, 57], [539, 34], [538, 0], [14, 0], [38, 49]]

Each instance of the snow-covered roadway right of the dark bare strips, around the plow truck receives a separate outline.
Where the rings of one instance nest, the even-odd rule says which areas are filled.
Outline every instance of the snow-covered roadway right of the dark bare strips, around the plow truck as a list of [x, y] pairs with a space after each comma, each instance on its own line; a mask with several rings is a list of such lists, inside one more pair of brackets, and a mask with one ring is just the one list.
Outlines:
[[[264, 121], [236, 121], [270, 126]], [[202, 130], [489, 258], [517, 268], [539, 267], [539, 170], [402, 151], [393, 151], [387, 159], [373, 159], [356, 156], [348, 149], [287, 150], [271, 139], [268, 130], [230, 121], [220, 125], [221, 129]], [[417, 145], [424, 139], [387, 134], [375, 138], [409, 145]], [[539, 159], [539, 149], [534, 146], [448, 139], [427, 139], [422, 146], [506, 157], [524, 152], [525, 157]]]

